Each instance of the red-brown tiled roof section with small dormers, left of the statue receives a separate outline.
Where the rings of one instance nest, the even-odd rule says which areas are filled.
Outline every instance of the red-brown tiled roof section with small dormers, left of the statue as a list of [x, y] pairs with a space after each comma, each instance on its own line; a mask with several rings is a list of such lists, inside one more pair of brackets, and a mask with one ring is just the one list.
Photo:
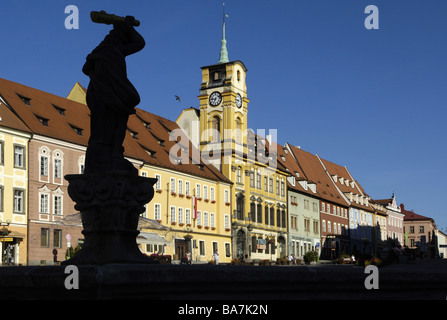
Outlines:
[[33, 134], [87, 146], [86, 105], [1, 78], [0, 94]]

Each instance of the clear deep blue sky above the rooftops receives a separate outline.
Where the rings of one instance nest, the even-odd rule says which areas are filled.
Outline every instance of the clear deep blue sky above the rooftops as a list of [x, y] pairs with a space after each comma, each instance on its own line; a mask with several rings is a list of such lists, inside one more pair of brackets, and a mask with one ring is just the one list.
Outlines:
[[[65, 7], [79, 29], [64, 27]], [[367, 5], [379, 29], [367, 30]], [[248, 125], [346, 165], [375, 199], [447, 230], [445, 0], [227, 0], [230, 60], [247, 66]], [[127, 58], [140, 108], [174, 120], [198, 107], [200, 67], [217, 63], [222, 1], [0, 3], [0, 77], [67, 96], [88, 78], [85, 56], [110, 27], [89, 13], [141, 20], [143, 51]], [[174, 95], [181, 97], [181, 102]]]

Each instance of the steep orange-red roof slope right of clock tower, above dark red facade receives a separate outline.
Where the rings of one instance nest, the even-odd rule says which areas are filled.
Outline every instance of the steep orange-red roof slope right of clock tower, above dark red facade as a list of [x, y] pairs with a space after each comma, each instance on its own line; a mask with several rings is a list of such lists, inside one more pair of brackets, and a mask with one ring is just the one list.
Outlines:
[[288, 144], [290, 150], [309, 181], [317, 186], [318, 196], [329, 202], [348, 207], [350, 203], [337, 190], [317, 156]]

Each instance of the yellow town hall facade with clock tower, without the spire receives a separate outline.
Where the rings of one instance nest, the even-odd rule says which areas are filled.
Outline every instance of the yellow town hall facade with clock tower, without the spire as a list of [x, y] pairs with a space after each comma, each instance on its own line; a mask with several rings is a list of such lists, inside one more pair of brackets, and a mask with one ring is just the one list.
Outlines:
[[[247, 69], [241, 61], [221, 59], [202, 67], [199, 112], [188, 109], [177, 119], [199, 123], [202, 158], [233, 184], [231, 248], [233, 259], [274, 261], [287, 254], [286, 178], [276, 161], [276, 130], [247, 127]], [[267, 133], [267, 134], [266, 134]], [[193, 135], [192, 133], [190, 133]], [[272, 141], [273, 139], [273, 141]]]

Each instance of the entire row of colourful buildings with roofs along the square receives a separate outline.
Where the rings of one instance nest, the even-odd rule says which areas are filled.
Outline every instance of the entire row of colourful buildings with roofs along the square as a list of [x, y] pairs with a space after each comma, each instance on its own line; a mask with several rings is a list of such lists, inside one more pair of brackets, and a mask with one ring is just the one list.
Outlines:
[[[225, 51], [225, 50], [224, 50]], [[157, 178], [137, 242], [148, 254], [192, 262], [320, 259], [380, 254], [387, 244], [444, 255], [430, 218], [372, 199], [346, 166], [250, 130], [243, 62], [204, 66], [199, 108], [176, 121], [136, 108], [123, 147]], [[67, 174], [82, 174], [90, 135], [86, 90], [67, 98], [0, 79], [3, 264], [53, 264], [83, 243]]]

